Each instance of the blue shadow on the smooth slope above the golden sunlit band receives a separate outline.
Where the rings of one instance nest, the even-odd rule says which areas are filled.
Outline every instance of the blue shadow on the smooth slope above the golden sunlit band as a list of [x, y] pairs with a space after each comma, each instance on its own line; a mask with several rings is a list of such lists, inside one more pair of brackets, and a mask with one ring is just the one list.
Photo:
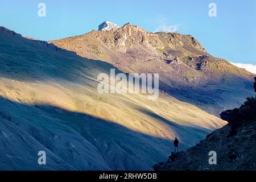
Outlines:
[[[4, 37], [6, 39], [6, 37]], [[110, 72], [112, 65], [99, 60], [89, 60], [75, 52], [58, 48], [53, 44], [14, 38], [3, 39], [0, 34], [0, 76], [18, 81], [72, 82], [95, 81], [94, 73]]]

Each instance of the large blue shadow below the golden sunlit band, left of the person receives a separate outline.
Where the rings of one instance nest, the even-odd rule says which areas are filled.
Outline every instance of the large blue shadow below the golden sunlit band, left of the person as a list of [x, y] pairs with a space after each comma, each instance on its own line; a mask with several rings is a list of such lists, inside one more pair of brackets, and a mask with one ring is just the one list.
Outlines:
[[[173, 148], [172, 140], [91, 115], [2, 97], [0, 121], [2, 170], [150, 170]], [[38, 151], [46, 151], [46, 166]]]

